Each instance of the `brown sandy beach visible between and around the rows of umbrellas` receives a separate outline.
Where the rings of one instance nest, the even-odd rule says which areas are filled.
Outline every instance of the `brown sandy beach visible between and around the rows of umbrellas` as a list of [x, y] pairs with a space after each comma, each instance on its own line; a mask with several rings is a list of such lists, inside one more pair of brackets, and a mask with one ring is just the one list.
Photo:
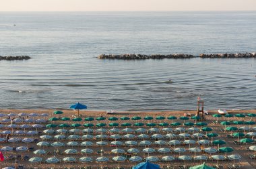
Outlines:
[[[42, 113], [47, 113], [49, 114], [49, 117], [46, 117], [44, 119], [49, 119], [51, 117], [69, 117], [71, 119], [73, 119], [72, 115], [76, 115], [77, 114], [77, 111], [73, 111], [73, 110], [61, 110], [63, 111], [63, 114], [61, 115], [54, 115], [53, 114], [53, 111], [56, 111], [54, 109], [46, 109], [46, 110], [38, 110], [38, 109], [30, 109], [30, 110], [14, 110], [14, 109], [1, 109], [0, 110], [0, 113], [3, 113], [3, 114], [8, 114], [8, 113], [15, 113], [15, 114], [18, 114], [18, 113], [37, 113], [37, 114], [42, 114]], [[170, 119], [162, 119], [162, 120], [158, 120], [156, 119], [156, 117], [158, 116], [163, 116], [163, 117], [169, 117], [169, 116], [176, 116], [178, 117], [178, 119], [174, 119], [173, 122], [180, 122], [180, 123], [184, 123], [183, 120], [179, 119], [179, 117], [182, 117], [184, 115], [184, 113], [191, 113], [191, 115], [195, 115], [196, 111], [146, 111], [146, 112], [142, 112], [142, 111], [117, 111], [117, 113], [113, 114], [113, 115], [106, 115], [106, 111], [80, 111], [80, 114], [82, 115], [82, 118], [83, 120], [82, 121], [48, 121], [47, 123], [43, 123], [42, 125], [46, 125], [48, 123], [54, 123], [54, 124], [61, 124], [61, 123], [67, 123], [69, 125], [71, 125], [72, 123], [79, 123], [81, 125], [84, 125], [84, 123], [93, 123], [94, 124], [94, 127], [90, 127], [94, 130], [98, 129], [99, 127], [95, 127], [96, 123], [106, 123], [106, 127], [103, 127], [105, 129], [112, 129], [113, 127], [110, 127], [108, 126], [109, 123], [138, 123], [138, 122], [141, 122], [141, 123], [168, 123], [170, 124], [172, 121]], [[238, 138], [237, 137], [226, 137], [226, 135], [228, 134], [231, 134], [232, 132], [230, 131], [226, 131], [226, 132], [222, 132], [221, 129], [224, 129], [224, 125], [220, 125], [220, 122], [219, 123], [214, 123], [214, 121], [216, 121], [216, 117], [212, 117], [213, 114], [216, 114], [218, 113], [217, 110], [210, 110], [208, 111], [209, 115], [205, 115], [205, 123], [207, 123], [207, 127], [211, 127], [213, 129], [213, 131], [208, 131], [208, 133], [211, 133], [211, 132], [214, 132], [214, 133], [218, 133], [218, 137], [214, 137], [214, 139], [222, 139], [226, 142], [226, 144], [222, 145], [222, 147], [231, 147], [234, 149], [233, 152], [229, 152], [227, 155], [230, 155], [230, 154], [238, 154], [240, 156], [242, 156], [242, 160], [239, 160], [239, 161], [236, 161], [235, 164], [239, 164], [240, 166], [242, 166], [242, 168], [256, 168], [256, 160], [252, 160], [251, 158], [249, 158], [249, 154], [254, 154], [254, 152], [251, 152], [251, 151], [247, 151], [247, 147], [249, 146], [252, 146], [252, 145], [255, 145], [255, 144], [234, 144], [233, 141], [234, 140], [237, 140]], [[230, 114], [236, 114], [236, 113], [256, 113], [256, 110], [229, 110], [228, 113]], [[84, 118], [86, 117], [94, 117], [94, 119], [96, 119], [96, 117], [106, 117], [106, 120], [103, 120], [103, 121], [84, 121]], [[120, 117], [135, 117], [135, 116], [139, 116], [141, 117], [142, 119], [140, 120], [137, 120], [137, 121], [134, 121], [132, 119], [129, 119], [127, 121], [123, 121], [120, 119]], [[154, 119], [152, 120], [144, 120], [143, 117], [146, 117], [146, 116], [151, 116], [151, 117], [154, 117]], [[108, 118], [109, 117], [117, 117], [118, 120], [117, 121], [109, 121]], [[0, 117], [1, 119], [3, 119], [4, 117]], [[36, 118], [39, 118], [39, 117], [36, 117]], [[228, 119], [228, 117], [220, 117], [218, 118], [218, 121], [227, 121], [227, 120], [230, 120], [230, 121], [255, 121], [255, 117], [253, 117], [254, 119], [252, 119], [251, 117], [230, 117]], [[185, 122], [195, 122], [193, 119], [189, 119]], [[8, 125], [10, 123], [1, 123], [1, 124], [4, 124], [4, 125]], [[236, 126], [236, 127], [241, 127], [241, 126], [244, 126], [244, 125], [230, 125], [230, 126]], [[166, 133], [164, 131], [162, 131], [162, 128], [164, 127], [161, 127], [161, 126], [156, 126], [158, 129], [160, 129], [159, 132], [157, 133], [160, 133], [162, 135], [165, 135]], [[175, 126], [171, 126], [169, 125], [168, 127], [172, 128], [172, 129], [175, 129], [176, 127]], [[184, 125], [181, 125], [181, 126], [178, 126], [178, 127], [184, 127], [185, 129], [188, 129], [189, 127], [188, 126], [184, 126]], [[193, 126], [192, 126], [193, 127]], [[200, 129], [200, 126], [194, 126], [194, 127], [198, 127]], [[250, 127], [255, 127], [255, 125], [252, 125]], [[115, 127], [117, 129], [123, 129], [125, 127], [121, 127], [120, 125], [118, 127]], [[131, 129], [137, 129], [139, 127], [135, 127], [135, 126], [131, 126], [129, 127]], [[145, 129], [150, 129], [152, 127], [148, 127], [146, 125], [143, 126], [143, 128]], [[58, 127], [57, 128], [53, 128], [53, 129], [59, 129]], [[71, 129], [71, 127], [67, 128], [67, 129]], [[77, 127], [77, 129], [86, 129], [86, 127], [84, 126], [81, 126], [81, 127]], [[4, 131], [4, 130], [7, 130], [7, 129], [3, 129], [3, 128], [0, 128], [0, 131]], [[18, 130], [18, 129], [14, 129], [14, 130]], [[42, 142], [43, 140], [40, 139], [40, 135], [45, 135], [45, 133], [42, 133], [44, 129], [38, 129], [38, 131], [40, 131], [41, 133], [38, 134], [38, 135], [10, 135], [10, 138], [11, 137], [21, 137], [21, 138], [24, 138], [24, 137], [31, 137], [31, 138], [36, 138], [38, 139], [38, 142]], [[238, 132], [238, 131], [236, 131]], [[243, 132], [243, 131], [241, 131]], [[249, 132], [249, 131], [248, 131]], [[246, 133], [246, 131], [245, 131]], [[84, 135], [85, 133], [76, 133], [77, 135]], [[93, 135], [97, 135], [97, 134], [100, 134], [100, 133], [93, 133]], [[105, 133], [106, 135], [112, 135], [113, 133], [110, 133], [110, 132], [106, 132]], [[133, 133], [134, 135], [138, 135], [138, 134], [135, 134]], [[192, 134], [192, 133], [190, 133]], [[54, 135], [57, 135], [57, 133], [53, 134]], [[120, 135], [125, 135], [125, 133], [120, 133]], [[121, 142], [125, 142], [127, 141], [126, 139], [118, 139], [119, 141]], [[137, 138], [133, 138], [133, 139], [130, 139], [130, 140], [133, 140], [133, 141], [136, 141], [136, 142], [141, 142], [142, 140], [141, 139], [137, 139]], [[155, 139], [152, 139], [152, 138], [148, 138], [146, 140], [150, 140], [150, 142], [154, 142], [156, 141]], [[170, 141], [170, 139], [163, 139], [164, 141], [168, 142]], [[181, 141], [183, 141], [183, 139], [180, 139]], [[63, 139], [63, 140], [59, 140], [58, 142], [63, 142], [64, 144], [67, 144], [67, 142], [70, 142], [71, 140], [67, 140], [67, 139]], [[78, 142], [78, 143], [81, 143], [81, 142], [84, 142], [84, 141], [90, 141], [90, 142], [98, 142], [98, 141], [101, 141], [101, 140], [98, 140], [98, 139], [91, 139], [91, 140], [82, 140], [82, 139], [77, 139], [77, 140], [73, 140], [75, 142]], [[110, 138], [106, 138], [106, 139], [102, 139], [102, 141], [104, 142], [113, 142], [115, 141], [115, 139], [110, 139]], [[50, 140], [50, 141], [46, 141], [46, 142], [57, 142], [56, 140]], [[131, 166], [134, 166], [135, 164], [137, 164], [138, 162], [130, 162], [129, 160], [126, 160], [125, 162], [113, 162], [112, 161], [112, 158], [115, 157], [115, 156], [121, 156], [121, 154], [113, 154], [111, 152], [111, 150], [115, 149], [116, 147], [113, 147], [113, 146], [110, 146], [109, 144], [107, 146], [103, 146], [102, 149], [104, 150], [103, 152], [103, 156], [109, 158], [110, 162], [95, 162], [95, 159], [100, 157], [101, 154], [99, 154], [98, 152], [101, 150], [101, 147], [100, 146], [96, 146], [96, 144], [94, 144], [93, 146], [89, 147], [91, 148], [92, 150], [94, 150], [94, 153], [92, 154], [81, 154], [80, 153], [80, 150], [86, 148], [86, 147], [81, 147], [81, 146], [76, 146], [76, 147], [73, 147], [73, 149], [77, 150], [78, 151], [78, 154], [54, 154], [54, 148], [52, 147], [39, 147], [39, 146], [36, 146], [36, 143], [30, 143], [30, 144], [24, 144], [22, 142], [18, 142], [18, 143], [7, 143], [7, 142], [1, 142], [1, 148], [4, 147], [4, 146], [11, 146], [11, 147], [18, 147], [18, 146], [28, 146], [28, 147], [32, 147], [34, 148], [34, 150], [40, 150], [40, 149], [43, 149], [43, 150], [46, 150], [46, 152], [48, 152], [47, 154], [44, 154], [44, 155], [37, 155], [37, 154], [33, 154], [33, 151], [26, 151], [26, 152], [3, 152], [3, 155], [4, 156], [10, 156], [11, 154], [16, 154], [16, 155], [21, 155], [21, 156], [24, 156], [24, 155], [28, 155], [30, 158], [32, 157], [40, 157], [42, 159], [46, 159], [46, 158], [50, 158], [50, 157], [53, 157], [55, 156], [56, 158], [59, 158], [59, 159], [63, 159], [65, 157], [73, 157], [77, 160], [77, 162], [63, 162], [61, 161], [61, 163], [59, 164], [46, 164], [44, 162], [42, 163], [39, 163], [36, 164], [36, 163], [30, 163], [26, 160], [18, 160], [18, 163], [22, 166], [24, 166], [24, 168], [35, 168], [35, 167], [38, 167], [38, 168], [64, 168], [63, 166], [65, 167], [68, 167], [68, 168], [81, 168], [81, 167], [86, 167], [86, 166], [92, 166], [92, 168], [98, 168], [100, 166], [107, 166], [109, 168], [117, 168], [118, 166], [122, 166], [124, 168], [130, 168]], [[192, 147], [199, 147], [201, 148], [201, 146], [195, 144], [195, 145], [191, 145], [191, 148]], [[213, 147], [213, 148], [218, 148], [218, 146], [212, 146], [212, 145], [205, 145], [205, 148], [208, 148], [208, 147]], [[67, 150], [68, 148], [71, 148], [71, 147], [67, 147], [67, 146], [63, 146], [61, 148], [58, 148], [58, 150], [60, 152], [64, 152], [65, 150]], [[123, 150], [127, 150], [130, 148], [130, 146], [119, 146], [119, 148], [123, 149]], [[155, 148], [156, 150], [158, 148], [170, 148], [171, 150], [174, 149], [174, 146], [168, 146], [168, 145], [165, 145], [165, 146], [158, 146], [158, 145], [155, 145], [155, 144], [152, 144], [150, 146], [133, 146], [132, 148], [137, 148], [139, 150], [142, 150], [143, 148]], [[185, 145], [177, 145], [176, 148], [185, 148], [186, 150], [188, 150], [189, 146], [185, 146]], [[221, 154], [221, 155], [225, 155], [224, 153], [217, 153], [217, 154]], [[123, 154], [125, 155], [125, 154]], [[141, 156], [143, 158], [146, 158], [148, 156], [157, 156], [159, 159], [162, 158], [162, 156], [174, 156], [174, 157], [178, 157], [180, 154], [178, 153], [174, 153], [174, 152], [171, 152], [171, 153], [166, 153], [166, 154], [160, 154], [160, 153], [152, 153], [152, 154], [144, 154], [143, 152], [139, 152], [136, 156]], [[193, 156], [194, 154], [191, 154], [189, 151], [186, 151], [184, 153], [181, 153], [181, 155], [189, 155], [189, 156]], [[204, 152], [199, 152], [196, 154], [197, 156], [199, 155], [205, 155], [205, 156], [210, 156], [210, 154], [205, 154]], [[213, 154], [212, 154], [213, 155]], [[91, 158], [93, 158], [93, 162], [87, 162], [87, 163], [82, 163], [82, 162], [79, 162], [79, 158], [82, 158], [84, 156], [90, 156]], [[173, 166], [174, 168], [179, 168], [179, 166], [183, 166], [184, 163], [183, 162], [179, 162], [177, 160], [175, 161], [172, 161], [172, 162], [155, 162], [156, 164], [159, 164], [161, 167], [163, 166]], [[216, 161], [212, 161], [212, 160], [207, 160], [206, 161], [207, 165], [209, 166], [214, 166], [216, 165]], [[1, 167], [6, 167], [6, 166], [13, 166], [14, 165], [14, 160], [4, 160], [3, 162], [0, 162], [1, 164]], [[170, 165], [171, 164], [171, 165]], [[195, 166], [197, 164], [201, 164], [200, 161], [186, 161], [186, 165], [187, 166]], [[231, 165], [233, 164], [232, 161], [228, 161], [228, 160], [224, 160], [224, 161], [220, 161], [220, 164], [222, 166], [224, 166], [224, 168], [228, 168], [228, 165]]]

